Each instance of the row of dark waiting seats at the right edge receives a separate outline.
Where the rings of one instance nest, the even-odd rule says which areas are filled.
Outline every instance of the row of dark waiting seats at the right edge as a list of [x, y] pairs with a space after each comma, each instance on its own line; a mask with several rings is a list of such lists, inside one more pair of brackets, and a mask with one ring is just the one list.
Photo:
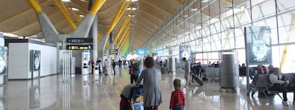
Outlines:
[[[295, 84], [295, 73], [288, 73], [288, 74], [284, 74], [288, 79], [290, 83], [294, 83]], [[269, 91], [269, 92], [274, 92], [274, 94], [278, 94], [279, 95], [279, 91], [272, 91], [269, 90], [269, 88], [271, 87], [271, 82], [269, 80], [269, 74], [261, 74], [261, 75], [257, 75], [258, 79], [256, 84], [251, 84], [251, 90], [252, 90], [252, 96], [254, 95], [254, 93], [256, 91], [262, 92], [266, 98], [268, 99], [265, 91]], [[291, 90], [288, 90], [287, 92], [294, 92]], [[294, 92], [295, 93], [295, 92]], [[279, 97], [281, 98], [281, 95], [279, 95]], [[281, 98], [283, 99], [283, 98]], [[295, 95], [293, 97], [293, 101], [295, 102]]]

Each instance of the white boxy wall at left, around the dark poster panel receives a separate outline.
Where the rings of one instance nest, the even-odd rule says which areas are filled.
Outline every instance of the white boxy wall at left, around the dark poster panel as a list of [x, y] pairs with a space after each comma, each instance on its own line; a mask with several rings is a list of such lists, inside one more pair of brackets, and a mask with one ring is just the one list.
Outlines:
[[41, 77], [57, 73], [56, 47], [35, 43], [9, 43], [9, 79], [31, 79], [30, 50], [41, 51]]

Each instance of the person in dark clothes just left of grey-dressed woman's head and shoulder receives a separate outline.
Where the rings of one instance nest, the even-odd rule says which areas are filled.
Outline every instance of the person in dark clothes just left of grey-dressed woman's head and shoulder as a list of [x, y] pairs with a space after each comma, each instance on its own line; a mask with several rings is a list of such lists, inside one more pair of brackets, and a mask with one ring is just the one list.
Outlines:
[[129, 74], [130, 74], [130, 81], [131, 81], [131, 84], [133, 84], [133, 81], [134, 82], [137, 82], [138, 81], [138, 71], [139, 71], [139, 67], [138, 67], [138, 64], [135, 63], [135, 60], [130, 60], [131, 64], [129, 65]]

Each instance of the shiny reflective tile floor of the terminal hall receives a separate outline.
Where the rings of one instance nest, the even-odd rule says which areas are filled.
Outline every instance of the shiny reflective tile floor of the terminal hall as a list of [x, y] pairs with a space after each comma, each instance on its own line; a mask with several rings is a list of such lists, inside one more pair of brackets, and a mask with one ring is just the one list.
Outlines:
[[[109, 71], [111, 72], [111, 71]], [[76, 75], [71, 82], [63, 82], [63, 75], [52, 75], [41, 79], [9, 80], [6, 87], [0, 87], [0, 110], [118, 110], [120, 92], [130, 83], [128, 69], [116, 69], [116, 75]], [[158, 82], [162, 91], [160, 110], [169, 109], [172, 80], [183, 79], [181, 70], [175, 75], [161, 75]], [[109, 73], [112, 74], [112, 73]], [[203, 87], [193, 83], [183, 88], [187, 110], [236, 110], [236, 109], [295, 109], [293, 94], [288, 93], [289, 106], [283, 106], [278, 96], [266, 99], [255, 94], [246, 95], [245, 80], [240, 77], [237, 93], [219, 92], [218, 82], [205, 82]]]

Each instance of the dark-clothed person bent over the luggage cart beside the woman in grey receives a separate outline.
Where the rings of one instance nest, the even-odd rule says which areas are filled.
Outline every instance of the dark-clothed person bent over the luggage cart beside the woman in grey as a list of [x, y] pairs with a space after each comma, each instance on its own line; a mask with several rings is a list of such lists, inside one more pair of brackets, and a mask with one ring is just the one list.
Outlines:
[[132, 88], [135, 84], [128, 84], [125, 86], [120, 94], [120, 110], [131, 110], [130, 100], [132, 98]]

